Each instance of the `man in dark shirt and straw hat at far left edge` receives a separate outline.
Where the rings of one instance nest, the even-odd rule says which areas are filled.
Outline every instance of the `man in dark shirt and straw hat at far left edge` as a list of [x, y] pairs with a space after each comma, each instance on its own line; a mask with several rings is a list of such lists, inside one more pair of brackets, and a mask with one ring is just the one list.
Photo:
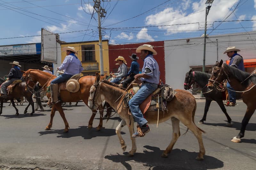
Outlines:
[[0, 94], [1, 97], [7, 96], [6, 88], [8, 87], [8, 85], [12, 84], [14, 80], [18, 80], [22, 77], [22, 72], [20, 71], [21, 65], [19, 65], [19, 62], [13, 61], [13, 63], [10, 63], [10, 64], [12, 64], [12, 68], [8, 75], [9, 80], [5, 81], [1, 85], [1, 94]]

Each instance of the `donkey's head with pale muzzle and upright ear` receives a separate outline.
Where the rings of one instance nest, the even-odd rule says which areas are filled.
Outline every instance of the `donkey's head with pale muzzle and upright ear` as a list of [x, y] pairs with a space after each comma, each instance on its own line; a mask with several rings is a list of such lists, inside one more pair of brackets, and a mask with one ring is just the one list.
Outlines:
[[102, 103], [101, 96], [100, 96], [100, 85], [101, 85], [100, 74], [96, 73], [94, 84], [90, 89], [90, 96], [88, 99], [88, 107], [92, 110], [97, 109]]

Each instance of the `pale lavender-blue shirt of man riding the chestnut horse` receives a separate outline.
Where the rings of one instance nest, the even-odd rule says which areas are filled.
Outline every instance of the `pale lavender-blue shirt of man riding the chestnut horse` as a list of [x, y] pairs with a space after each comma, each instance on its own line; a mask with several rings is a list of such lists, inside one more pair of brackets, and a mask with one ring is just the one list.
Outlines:
[[74, 54], [67, 55], [59, 67], [59, 70], [65, 70], [64, 74], [75, 75], [81, 73], [84, 68], [81, 61]]

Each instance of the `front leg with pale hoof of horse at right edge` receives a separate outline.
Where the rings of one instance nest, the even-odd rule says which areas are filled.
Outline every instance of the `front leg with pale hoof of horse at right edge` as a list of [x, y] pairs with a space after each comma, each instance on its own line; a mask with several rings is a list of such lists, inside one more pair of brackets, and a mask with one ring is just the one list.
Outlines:
[[244, 118], [242, 120], [241, 130], [240, 130], [239, 134], [236, 137], [233, 137], [233, 139], [231, 140], [232, 142], [235, 142], [235, 143], [241, 142], [241, 138], [244, 137], [245, 128], [246, 128], [250, 118], [252, 117], [252, 114], [254, 113], [254, 111], [255, 111], [254, 106], [253, 106], [253, 108], [248, 108], [247, 107]]

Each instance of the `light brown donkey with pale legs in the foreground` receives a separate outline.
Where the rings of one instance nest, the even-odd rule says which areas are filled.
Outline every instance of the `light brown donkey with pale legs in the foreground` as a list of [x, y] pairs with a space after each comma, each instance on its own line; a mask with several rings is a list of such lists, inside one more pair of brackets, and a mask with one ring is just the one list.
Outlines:
[[[199, 129], [194, 123], [194, 117], [196, 112], [196, 100], [193, 95], [185, 90], [176, 90], [177, 93], [174, 98], [168, 103], [165, 113], [162, 111], [159, 113], [159, 122], [165, 122], [171, 118], [172, 121], [172, 141], [163, 152], [162, 157], [167, 157], [168, 153], [171, 152], [173, 145], [180, 137], [180, 121], [190, 129], [196, 136], [199, 143], [199, 154], [196, 157], [197, 160], [204, 159], [204, 144], [202, 139], [203, 130]], [[132, 140], [132, 150], [129, 152], [129, 156], [133, 156], [136, 152], [135, 138], [132, 137], [134, 133], [134, 122], [132, 117], [128, 114], [128, 107], [122, 107], [123, 98], [127, 92], [123, 89], [118, 88], [115, 84], [110, 83], [106, 80], [100, 82], [100, 75], [96, 74], [94, 85], [90, 89], [90, 98], [88, 106], [92, 109], [99, 107], [102, 100], [106, 100], [111, 107], [117, 110], [118, 115], [122, 121], [116, 127], [116, 134], [120, 140], [121, 147], [123, 150], [126, 149], [123, 138], [121, 137], [121, 129], [126, 124], [129, 126], [130, 137]], [[123, 96], [122, 96], [123, 95]], [[111, 97], [109, 97], [111, 96]], [[148, 111], [145, 113], [145, 118], [148, 123], [157, 123], [157, 111]], [[188, 130], [187, 129], [187, 130]], [[186, 131], [187, 132], [187, 131]]]

